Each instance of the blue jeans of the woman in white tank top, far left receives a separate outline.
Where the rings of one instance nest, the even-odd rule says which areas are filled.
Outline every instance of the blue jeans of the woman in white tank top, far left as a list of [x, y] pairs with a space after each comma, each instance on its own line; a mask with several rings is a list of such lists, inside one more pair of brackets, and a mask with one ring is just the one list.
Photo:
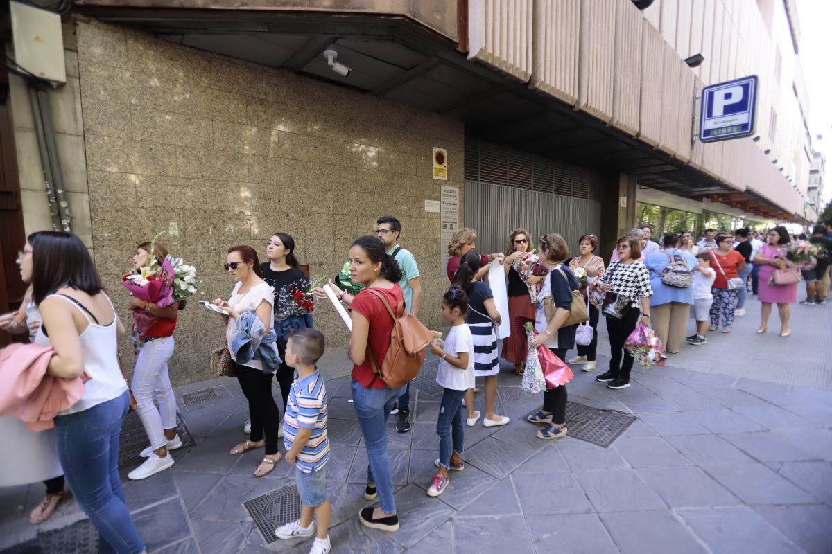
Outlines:
[[72, 496], [101, 534], [98, 552], [144, 552], [118, 478], [118, 436], [130, 409], [127, 391], [75, 414], [55, 418], [57, 456]]

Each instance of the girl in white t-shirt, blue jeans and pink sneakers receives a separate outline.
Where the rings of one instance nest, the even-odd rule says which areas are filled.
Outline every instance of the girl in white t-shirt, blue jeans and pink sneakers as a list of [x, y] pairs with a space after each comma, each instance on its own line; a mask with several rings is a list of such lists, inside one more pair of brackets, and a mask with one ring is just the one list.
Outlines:
[[442, 403], [436, 432], [439, 435], [439, 458], [435, 465], [438, 473], [428, 488], [428, 496], [438, 497], [448, 487], [448, 470], [462, 471], [465, 391], [473, 389], [473, 336], [465, 323], [468, 296], [462, 287], [452, 285], [442, 297], [442, 318], [451, 324], [445, 341], [434, 339], [433, 354], [442, 356], [436, 382], [442, 385]]

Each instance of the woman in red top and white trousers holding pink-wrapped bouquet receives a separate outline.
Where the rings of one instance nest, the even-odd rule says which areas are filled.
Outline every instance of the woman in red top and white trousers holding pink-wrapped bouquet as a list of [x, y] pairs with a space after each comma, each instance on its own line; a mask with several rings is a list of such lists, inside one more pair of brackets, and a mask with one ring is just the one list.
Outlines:
[[[161, 243], [141, 243], [133, 255], [133, 269], [139, 270], [147, 265], [151, 250], [161, 267], [167, 249]], [[135, 323], [133, 326], [141, 350], [136, 358], [131, 390], [136, 397], [136, 414], [151, 441], [151, 445], [140, 454], [142, 458], [147, 458], [145, 462], [127, 473], [127, 477], [135, 481], [173, 466], [173, 457], [168, 450], [182, 446], [182, 441], [176, 434], [176, 396], [167, 373], [167, 362], [173, 355], [173, 331], [176, 329], [179, 302], [171, 299], [171, 304], [158, 306], [154, 302], [130, 297], [127, 299], [127, 309], [132, 311], [134, 321], [143, 316], [156, 319], [146, 330], [144, 326]], [[153, 403], [154, 396], [159, 409]]]

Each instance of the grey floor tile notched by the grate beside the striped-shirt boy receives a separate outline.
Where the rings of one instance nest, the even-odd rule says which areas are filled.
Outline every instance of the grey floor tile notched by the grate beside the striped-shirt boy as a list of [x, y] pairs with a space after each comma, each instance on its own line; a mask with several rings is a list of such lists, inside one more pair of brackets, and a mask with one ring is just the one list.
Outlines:
[[270, 493], [285, 483], [286, 480], [281, 478], [229, 475], [220, 481], [196, 509], [191, 511], [191, 517], [241, 522], [250, 517], [243, 507], [246, 500]]

